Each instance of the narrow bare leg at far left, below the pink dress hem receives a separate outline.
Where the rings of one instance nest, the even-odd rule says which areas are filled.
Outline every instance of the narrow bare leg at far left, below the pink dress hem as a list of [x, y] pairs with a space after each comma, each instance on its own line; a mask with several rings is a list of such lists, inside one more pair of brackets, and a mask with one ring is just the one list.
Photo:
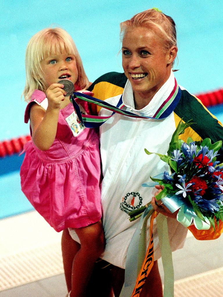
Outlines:
[[61, 247], [67, 290], [70, 292], [73, 259], [81, 246], [71, 238], [68, 229], [65, 229], [62, 233]]

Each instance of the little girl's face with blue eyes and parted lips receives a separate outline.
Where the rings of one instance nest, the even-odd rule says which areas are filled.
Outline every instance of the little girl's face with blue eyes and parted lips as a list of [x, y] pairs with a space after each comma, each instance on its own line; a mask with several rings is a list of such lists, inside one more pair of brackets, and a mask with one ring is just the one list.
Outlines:
[[73, 55], [64, 52], [48, 56], [41, 61], [41, 67], [43, 69], [43, 78], [46, 82], [46, 89], [60, 79], [69, 79], [73, 84], [77, 81], [78, 71], [76, 59]]

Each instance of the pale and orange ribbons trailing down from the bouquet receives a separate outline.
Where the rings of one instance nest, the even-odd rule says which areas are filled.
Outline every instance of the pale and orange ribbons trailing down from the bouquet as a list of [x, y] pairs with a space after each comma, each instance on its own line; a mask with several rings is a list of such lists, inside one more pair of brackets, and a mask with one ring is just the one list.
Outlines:
[[[150, 217], [150, 241], [146, 250], [147, 221]], [[143, 285], [154, 264], [153, 221], [156, 226], [164, 268], [164, 297], [174, 296], [174, 272], [172, 252], [169, 244], [167, 218], [154, 211], [151, 204], [142, 214], [130, 241], [125, 264], [125, 282], [120, 297], [139, 297]]]

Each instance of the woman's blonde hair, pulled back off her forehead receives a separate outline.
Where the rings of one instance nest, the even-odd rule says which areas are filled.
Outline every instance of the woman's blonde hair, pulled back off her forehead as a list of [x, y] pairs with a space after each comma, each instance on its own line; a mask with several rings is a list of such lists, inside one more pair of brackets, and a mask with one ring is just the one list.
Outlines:
[[130, 20], [120, 23], [121, 39], [127, 29], [146, 27], [158, 28], [163, 34], [163, 45], [166, 50], [177, 46], [177, 34], [174, 20], [157, 9], [148, 9], [134, 15]]

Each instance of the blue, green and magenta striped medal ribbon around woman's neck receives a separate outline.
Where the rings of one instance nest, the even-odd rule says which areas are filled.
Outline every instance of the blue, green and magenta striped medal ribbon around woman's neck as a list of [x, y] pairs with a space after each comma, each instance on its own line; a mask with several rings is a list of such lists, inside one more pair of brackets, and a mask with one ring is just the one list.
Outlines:
[[[75, 97], [76, 98], [75, 98]], [[175, 109], [176, 105], [178, 104], [181, 96], [181, 90], [180, 87], [177, 84], [177, 81], [175, 79], [175, 86], [167, 99], [159, 106], [156, 113], [150, 117], [150, 116], [138, 116], [135, 113], [131, 113], [130, 111], [123, 110], [123, 107], [125, 106], [122, 100], [122, 96], [119, 99], [119, 102], [117, 106], [111, 105], [108, 102], [105, 102], [103, 100], [88, 96], [86, 94], [82, 94], [79, 92], [73, 93], [71, 96], [71, 101], [73, 103], [73, 107], [76, 110], [78, 118], [81, 120], [81, 122], [84, 124], [87, 128], [96, 128], [101, 126], [103, 123], [105, 123], [108, 119], [110, 119], [115, 113], [122, 114], [124, 116], [133, 117], [133, 118], [139, 118], [139, 119], [165, 119], [167, 118], [172, 111]], [[103, 107], [105, 109], [111, 110], [112, 114], [110, 116], [92, 116], [92, 115], [86, 115], [81, 113], [81, 110], [79, 108], [79, 105], [77, 103], [78, 99], [87, 101], [89, 103], [93, 103], [96, 105], [99, 105], [100, 107]]]

